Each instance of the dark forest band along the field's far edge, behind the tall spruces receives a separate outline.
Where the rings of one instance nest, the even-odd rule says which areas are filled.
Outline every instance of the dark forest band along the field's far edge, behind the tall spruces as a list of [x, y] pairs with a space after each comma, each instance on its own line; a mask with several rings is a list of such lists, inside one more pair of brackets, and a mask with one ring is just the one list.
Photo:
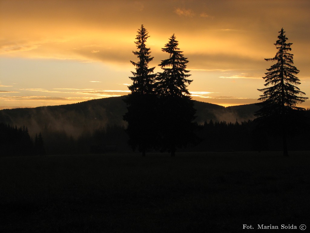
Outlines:
[[[306, 121], [291, 127], [288, 149], [310, 150], [309, 124], [310, 110], [305, 112]], [[198, 125], [198, 142], [190, 144], [179, 152], [223, 152], [223, 151], [277, 151], [281, 148], [281, 138], [275, 132], [261, 133], [253, 120], [238, 122], [205, 121]], [[127, 144], [125, 126], [100, 127], [94, 132], [82, 133], [77, 138], [64, 131], [46, 130], [35, 138], [29, 136], [27, 127], [11, 127], [0, 123], [0, 146], [2, 156], [29, 156], [45, 154], [104, 154], [132, 153]], [[57, 145], [57, 146], [55, 146]], [[148, 153], [156, 152], [150, 149]]]

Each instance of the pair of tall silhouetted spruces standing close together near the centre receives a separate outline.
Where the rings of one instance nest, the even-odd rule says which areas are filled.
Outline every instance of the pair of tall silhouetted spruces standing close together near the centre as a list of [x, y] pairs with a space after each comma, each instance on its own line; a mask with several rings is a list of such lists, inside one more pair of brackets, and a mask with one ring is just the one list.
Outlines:
[[131, 71], [133, 83], [128, 87], [131, 94], [125, 99], [126, 132], [131, 147], [138, 148], [143, 156], [149, 150], [168, 151], [175, 156], [177, 147], [197, 139], [194, 136], [197, 124], [193, 123], [196, 110], [187, 89], [193, 80], [188, 79], [188, 60], [179, 50], [174, 34], [162, 48], [169, 54], [159, 64], [163, 72], [154, 73], [155, 67], [148, 66], [154, 58], [145, 45], [148, 37], [148, 31], [141, 25], [135, 41], [137, 51], [133, 51], [139, 62], [131, 61], [135, 72]]

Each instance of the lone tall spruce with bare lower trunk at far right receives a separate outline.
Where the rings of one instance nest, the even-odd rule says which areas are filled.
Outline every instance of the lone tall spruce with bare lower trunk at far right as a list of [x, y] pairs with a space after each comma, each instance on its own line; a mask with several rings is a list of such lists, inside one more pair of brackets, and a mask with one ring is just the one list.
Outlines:
[[287, 151], [287, 128], [290, 124], [298, 119], [300, 110], [305, 110], [302, 107], [297, 107], [297, 103], [302, 103], [307, 97], [297, 95], [305, 95], [295, 85], [300, 84], [300, 80], [295, 76], [299, 70], [293, 66], [293, 54], [291, 51], [292, 43], [286, 43], [288, 38], [284, 34], [283, 28], [279, 31], [278, 40], [274, 44], [277, 47], [276, 56], [265, 59], [266, 61], [276, 62], [265, 73], [264, 86], [270, 86], [263, 89], [258, 89], [263, 92], [258, 100], [261, 109], [255, 113], [260, 122], [266, 124], [269, 122], [270, 127], [274, 127], [282, 135], [283, 141], [283, 155], [288, 156]]

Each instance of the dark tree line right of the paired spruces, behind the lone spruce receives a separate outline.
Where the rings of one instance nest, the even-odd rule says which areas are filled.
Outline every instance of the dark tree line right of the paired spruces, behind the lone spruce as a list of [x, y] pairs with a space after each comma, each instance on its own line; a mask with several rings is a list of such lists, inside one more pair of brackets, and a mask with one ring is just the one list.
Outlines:
[[[310, 110], [305, 113], [305, 122], [295, 122], [288, 128], [288, 150], [310, 150], [309, 124]], [[193, 148], [195, 151], [278, 151], [282, 138], [277, 131], [265, 131], [256, 120], [238, 122], [205, 122], [197, 132], [201, 143]]]

